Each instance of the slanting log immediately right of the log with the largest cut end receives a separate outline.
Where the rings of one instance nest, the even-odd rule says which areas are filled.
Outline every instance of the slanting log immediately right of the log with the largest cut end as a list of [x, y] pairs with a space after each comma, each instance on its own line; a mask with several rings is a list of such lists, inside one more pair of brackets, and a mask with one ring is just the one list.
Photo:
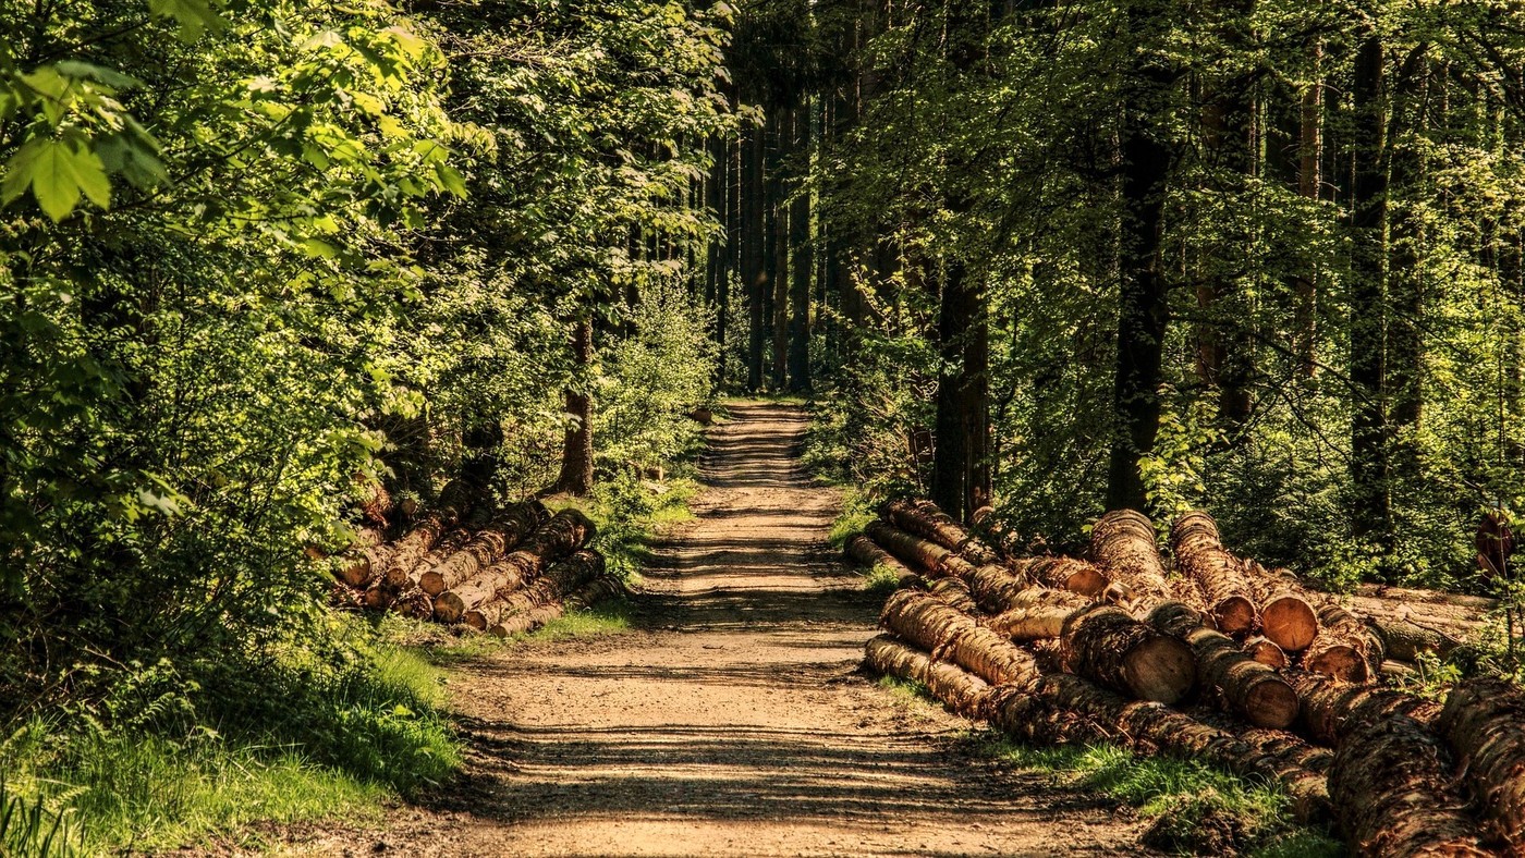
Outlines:
[[1159, 631], [1191, 646], [1197, 675], [1223, 703], [1257, 727], [1281, 730], [1298, 718], [1298, 693], [1273, 669], [1246, 655], [1234, 640], [1202, 625], [1202, 614], [1180, 602], [1150, 613]]

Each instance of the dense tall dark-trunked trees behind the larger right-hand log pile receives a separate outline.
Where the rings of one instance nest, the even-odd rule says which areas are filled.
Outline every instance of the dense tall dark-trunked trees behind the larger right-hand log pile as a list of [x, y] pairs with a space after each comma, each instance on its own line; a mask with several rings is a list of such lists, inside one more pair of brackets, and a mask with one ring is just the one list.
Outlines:
[[1525, 488], [1522, 35], [1508, 3], [746, 5], [732, 378], [813, 386], [822, 456], [955, 515], [1205, 504], [1331, 578], [1472, 582]]

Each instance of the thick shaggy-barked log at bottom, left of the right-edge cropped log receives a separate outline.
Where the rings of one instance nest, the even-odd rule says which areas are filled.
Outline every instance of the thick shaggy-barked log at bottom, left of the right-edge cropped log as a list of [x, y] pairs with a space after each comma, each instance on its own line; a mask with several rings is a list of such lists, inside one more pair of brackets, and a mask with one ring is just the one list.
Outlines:
[[1392, 713], [1354, 724], [1334, 753], [1328, 789], [1357, 855], [1498, 855], [1464, 811], [1450, 760], [1421, 724]]

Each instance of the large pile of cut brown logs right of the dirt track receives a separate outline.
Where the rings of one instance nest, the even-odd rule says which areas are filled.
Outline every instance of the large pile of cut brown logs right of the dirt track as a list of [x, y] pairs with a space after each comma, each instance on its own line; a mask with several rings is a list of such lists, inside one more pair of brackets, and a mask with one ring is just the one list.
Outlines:
[[1022, 741], [1110, 741], [1279, 782], [1296, 817], [1337, 821], [1360, 855], [1525, 855], [1520, 689], [1469, 680], [1443, 706], [1382, 687], [1456, 640], [1232, 555], [1202, 512], [1170, 547], [1174, 573], [1148, 518], [1116, 511], [1084, 559], [1019, 558], [1000, 532], [892, 501], [846, 546], [903, 585], [866, 663]]

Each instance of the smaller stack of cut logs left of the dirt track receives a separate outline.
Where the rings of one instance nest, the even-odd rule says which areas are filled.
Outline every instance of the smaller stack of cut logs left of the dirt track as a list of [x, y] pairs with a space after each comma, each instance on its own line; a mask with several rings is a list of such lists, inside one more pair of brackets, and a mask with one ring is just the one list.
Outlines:
[[[576, 509], [555, 515], [538, 500], [500, 511], [473, 506], [462, 483], [416, 515], [398, 538], [361, 530], [368, 544], [340, 558], [340, 603], [398, 611], [415, 619], [464, 623], [499, 637], [523, 634], [624, 593], [589, 547], [593, 523]], [[366, 507], [368, 521], [372, 511]]]

